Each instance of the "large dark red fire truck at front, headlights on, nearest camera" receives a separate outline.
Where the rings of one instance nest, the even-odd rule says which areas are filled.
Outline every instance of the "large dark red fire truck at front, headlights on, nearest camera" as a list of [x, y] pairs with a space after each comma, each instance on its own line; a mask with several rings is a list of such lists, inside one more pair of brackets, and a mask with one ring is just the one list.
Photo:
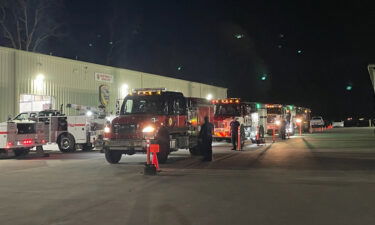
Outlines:
[[160, 163], [178, 149], [199, 154], [198, 134], [205, 116], [213, 118], [213, 105], [205, 99], [186, 98], [164, 88], [135, 89], [125, 97], [120, 115], [105, 128], [105, 158], [114, 164], [123, 154], [146, 152], [148, 141], [159, 144]]

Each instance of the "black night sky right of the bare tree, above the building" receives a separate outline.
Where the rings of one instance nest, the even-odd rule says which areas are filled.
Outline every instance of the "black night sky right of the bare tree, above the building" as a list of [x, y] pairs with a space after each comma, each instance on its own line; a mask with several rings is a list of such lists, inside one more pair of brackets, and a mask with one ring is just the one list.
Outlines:
[[68, 35], [43, 51], [106, 63], [115, 14], [122, 42], [111, 65], [225, 86], [231, 97], [307, 106], [332, 119], [369, 116], [369, 2], [66, 0]]

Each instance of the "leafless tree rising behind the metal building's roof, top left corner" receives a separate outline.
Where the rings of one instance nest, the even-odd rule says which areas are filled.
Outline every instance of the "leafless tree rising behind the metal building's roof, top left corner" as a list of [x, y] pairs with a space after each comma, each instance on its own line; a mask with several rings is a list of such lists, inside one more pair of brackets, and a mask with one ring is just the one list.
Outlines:
[[0, 0], [0, 31], [10, 47], [36, 51], [41, 43], [61, 35], [54, 18], [60, 0]]

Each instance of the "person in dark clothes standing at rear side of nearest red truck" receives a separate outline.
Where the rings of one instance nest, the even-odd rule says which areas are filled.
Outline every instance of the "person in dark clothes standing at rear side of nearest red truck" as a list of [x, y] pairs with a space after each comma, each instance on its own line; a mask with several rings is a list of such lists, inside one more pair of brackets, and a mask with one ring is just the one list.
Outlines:
[[203, 161], [212, 161], [212, 134], [214, 125], [209, 122], [208, 116], [204, 117], [204, 124], [199, 132], [201, 141], [201, 150], [203, 153]]

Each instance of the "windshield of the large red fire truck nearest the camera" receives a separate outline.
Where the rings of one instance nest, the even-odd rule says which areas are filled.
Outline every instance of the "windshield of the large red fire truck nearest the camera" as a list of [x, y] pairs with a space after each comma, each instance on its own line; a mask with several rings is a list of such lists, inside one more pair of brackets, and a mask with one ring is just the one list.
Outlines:
[[130, 96], [121, 106], [121, 115], [129, 114], [167, 114], [168, 108], [162, 96]]

